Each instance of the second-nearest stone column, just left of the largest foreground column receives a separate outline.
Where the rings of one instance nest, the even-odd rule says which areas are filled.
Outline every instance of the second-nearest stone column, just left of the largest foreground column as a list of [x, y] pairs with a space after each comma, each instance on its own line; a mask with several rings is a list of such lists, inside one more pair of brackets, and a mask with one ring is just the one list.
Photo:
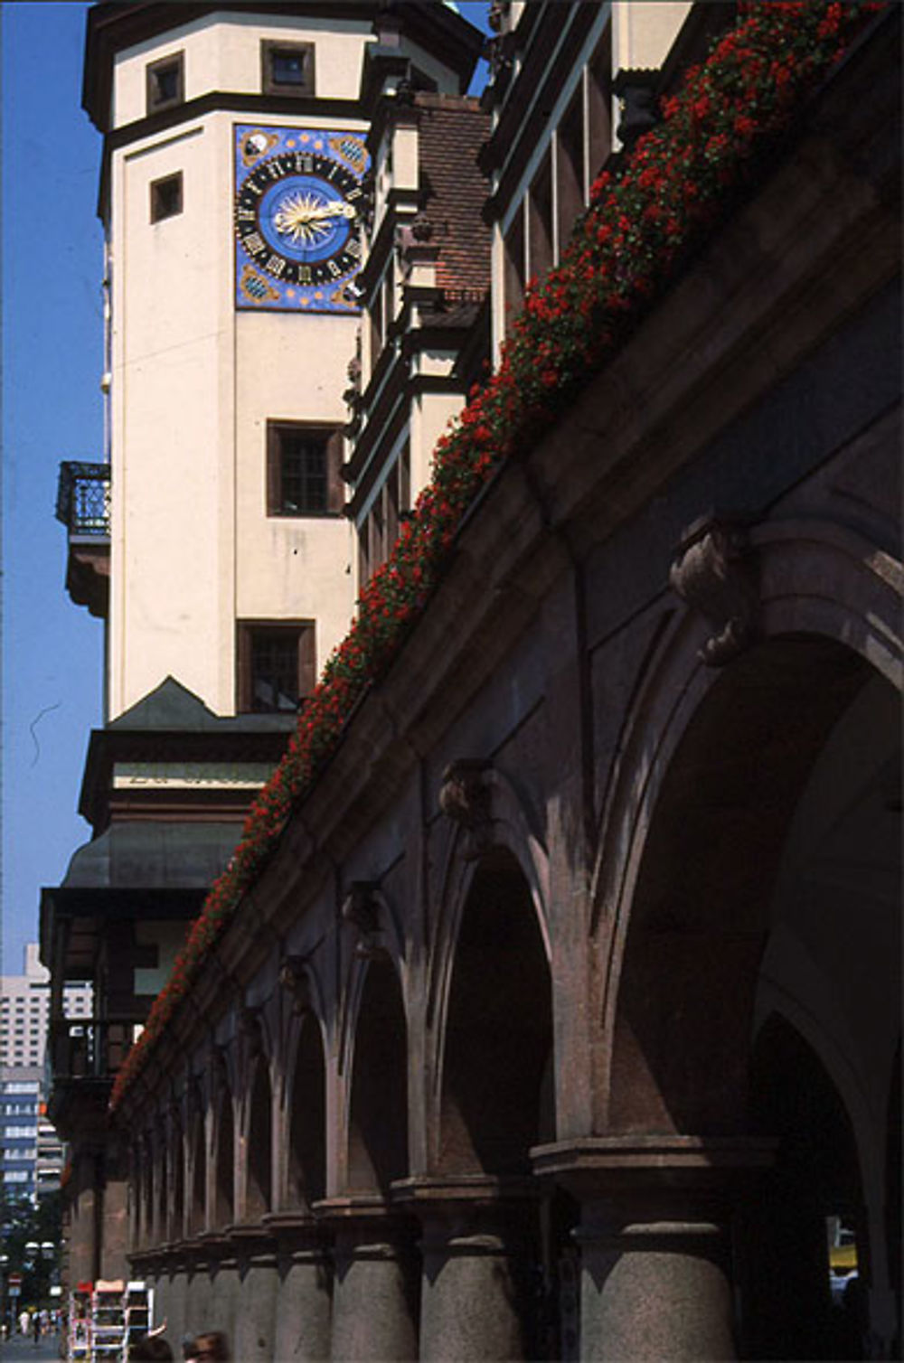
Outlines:
[[530, 1179], [404, 1179], [423, 1238], [421, 1363], [536, 1358], [539, 1254]]

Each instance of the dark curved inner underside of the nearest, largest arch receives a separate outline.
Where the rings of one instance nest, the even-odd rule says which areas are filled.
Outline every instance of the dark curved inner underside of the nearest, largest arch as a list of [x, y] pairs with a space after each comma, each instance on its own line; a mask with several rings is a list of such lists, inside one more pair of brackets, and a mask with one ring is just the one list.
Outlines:
[[720, 675], [683, 729], [614, 940], [603, 1130], [743, 1129], [784, 840], [826, 735], [869, 676], [832, 641], [769, 641]]

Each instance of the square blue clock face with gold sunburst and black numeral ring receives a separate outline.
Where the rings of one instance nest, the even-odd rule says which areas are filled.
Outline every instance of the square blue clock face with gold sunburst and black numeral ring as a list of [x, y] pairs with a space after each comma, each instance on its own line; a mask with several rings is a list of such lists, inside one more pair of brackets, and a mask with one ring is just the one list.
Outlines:
[[363, 134], [240, 125], [236, 307], [357, 312]]

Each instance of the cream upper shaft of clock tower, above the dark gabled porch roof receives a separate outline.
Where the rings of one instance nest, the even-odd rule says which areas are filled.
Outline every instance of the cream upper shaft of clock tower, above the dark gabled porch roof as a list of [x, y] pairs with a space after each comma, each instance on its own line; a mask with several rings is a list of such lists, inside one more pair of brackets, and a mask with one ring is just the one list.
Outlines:
[[432, 0], [89, 12], [83, 99], [104, 134], [110, 720], [168, 676], [218, 716], [290, 713], [342, 638], [355, 605], [341, 474], [370, 192], [363, 90], [378, 55], [390, 80], [416, 71], [425, 89], [458, 93], [474, 38]]

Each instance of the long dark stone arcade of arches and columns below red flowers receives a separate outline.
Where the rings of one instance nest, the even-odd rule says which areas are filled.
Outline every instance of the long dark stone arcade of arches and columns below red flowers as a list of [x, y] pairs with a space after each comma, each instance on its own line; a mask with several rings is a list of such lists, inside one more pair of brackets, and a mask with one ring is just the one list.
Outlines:
[[897, 1356], [896, 23], [500, 468], [125, 1089], [172, 1338]]

